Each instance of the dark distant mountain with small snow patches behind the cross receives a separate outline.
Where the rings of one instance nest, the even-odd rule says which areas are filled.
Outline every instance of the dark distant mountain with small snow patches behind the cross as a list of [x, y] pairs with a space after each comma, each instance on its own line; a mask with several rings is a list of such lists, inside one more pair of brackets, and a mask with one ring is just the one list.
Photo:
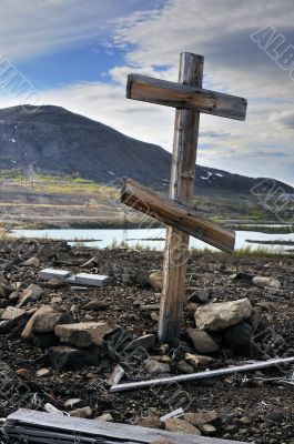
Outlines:
[[[0, 169], [22, 168], [50, 173], [79, 173], [98, 182], [129, 176], [166, 188], [171, 154], [161, 147], [60, 107], [13, 107], [0, 110]], [[196, 188], [247, 193], [260, 179], [197, 165]], [[281, 184], [285, 192], [292, 186]]]

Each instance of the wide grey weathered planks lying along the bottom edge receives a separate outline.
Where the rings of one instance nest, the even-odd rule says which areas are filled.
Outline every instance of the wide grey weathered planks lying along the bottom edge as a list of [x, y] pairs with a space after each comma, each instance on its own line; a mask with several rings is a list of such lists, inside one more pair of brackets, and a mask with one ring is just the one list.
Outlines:
[[[92, 442], [101, 444], [151, 444], [155, 440], [168, 440], [172, 444], [244, 444], [240, 441], [172, 433], [136, 425], [55, 416], [26, 408], [20, 408], [8, 416], [4, 433], [9, 436], [22, 436], [28, 441], [39, 440], [37, 442], [45, 444], [73, 444], [77, 442], [89, 444]], [[58, 436], [55, 441], [54, 434]], [[95, 438], [95, 441], [92, 441], [92, 438]]]

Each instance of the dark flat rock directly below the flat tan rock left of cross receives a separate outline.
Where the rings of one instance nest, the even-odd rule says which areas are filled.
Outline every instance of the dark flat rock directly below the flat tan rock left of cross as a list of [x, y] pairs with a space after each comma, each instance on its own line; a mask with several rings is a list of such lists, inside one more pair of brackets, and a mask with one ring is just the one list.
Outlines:
[[50, 363], [55, 369], [81, 369], [89, 365], [98, 365], [100, 361], [100, 347], [87, 350], [70, 346], [53, 346], [48, 352]]

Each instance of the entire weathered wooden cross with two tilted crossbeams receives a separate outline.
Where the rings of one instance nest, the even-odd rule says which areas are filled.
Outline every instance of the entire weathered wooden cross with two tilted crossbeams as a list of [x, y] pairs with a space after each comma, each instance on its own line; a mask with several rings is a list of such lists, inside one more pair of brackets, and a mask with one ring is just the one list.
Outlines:
[[193, 211], [200, 112], [245, 120], [245, 99], [202, 89], [202, 56], [181, 53], [179, 83], [145, 75], [128, 77], [126, 98], [176, 108], [170, 199], [125, 180], [122, 202], [166, 223], [159, 339], [178, 345], [181, 335], [189, 235], [226, 252], [234, 251], [235, 233]]

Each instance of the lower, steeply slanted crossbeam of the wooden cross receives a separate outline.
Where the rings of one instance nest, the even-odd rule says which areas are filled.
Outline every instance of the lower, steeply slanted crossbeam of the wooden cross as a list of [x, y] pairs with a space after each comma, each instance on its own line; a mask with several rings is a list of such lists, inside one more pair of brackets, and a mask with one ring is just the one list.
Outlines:
[[235, 232], [200, 216], [170, 198], [154, 193], [132, 179], [124, 179], [121, 201], [220, 250], [234, 252]]

